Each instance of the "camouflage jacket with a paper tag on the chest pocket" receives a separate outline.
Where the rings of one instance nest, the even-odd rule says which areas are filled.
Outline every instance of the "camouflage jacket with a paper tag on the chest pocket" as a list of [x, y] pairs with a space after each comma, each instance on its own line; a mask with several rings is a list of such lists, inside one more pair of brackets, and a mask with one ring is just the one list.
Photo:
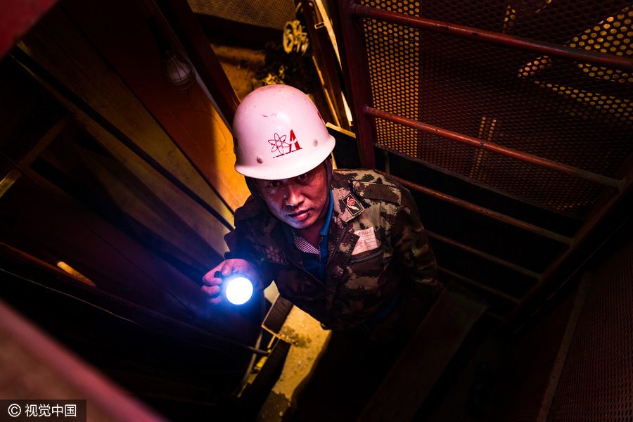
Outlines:
[[328, 232], [326, 282], [302, 265], [282, 222], [250, 197], [236, 211], [236, 229], [225, 236], [227, 257], [256, 264], [264, 286], [328, 328], [362, 326], [399, 295], [437, 295], [435, 255], [411, 193], [369, 170], [335, 170]]

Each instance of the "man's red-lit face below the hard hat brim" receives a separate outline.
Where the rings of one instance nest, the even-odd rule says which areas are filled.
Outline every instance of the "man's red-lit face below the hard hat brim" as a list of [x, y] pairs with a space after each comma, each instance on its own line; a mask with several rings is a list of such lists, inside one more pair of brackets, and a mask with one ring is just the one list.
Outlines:
[[319, 229], [325, 219], [328, 202], [326, 166], [321, 164], [305, 174], [281, 180], [255, 179], [270, 212], [294, 229], [306, 229], [315, 223]]

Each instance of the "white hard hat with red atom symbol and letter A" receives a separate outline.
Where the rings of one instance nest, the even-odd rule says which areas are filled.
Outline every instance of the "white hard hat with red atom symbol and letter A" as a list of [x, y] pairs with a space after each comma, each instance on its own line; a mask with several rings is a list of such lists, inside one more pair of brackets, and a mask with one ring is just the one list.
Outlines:
[[309, 172], [334, 149], [319, 110], [302, 91], [266, 85], [245, 96], [233, 120], [235, 170], [279, 180]]

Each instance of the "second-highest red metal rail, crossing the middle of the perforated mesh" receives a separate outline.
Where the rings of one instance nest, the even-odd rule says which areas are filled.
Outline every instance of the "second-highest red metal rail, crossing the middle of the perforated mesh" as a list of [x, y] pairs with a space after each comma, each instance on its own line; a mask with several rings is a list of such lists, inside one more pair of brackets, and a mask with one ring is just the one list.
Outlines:
[[608, 186], [610, 188], [618, 189], [618, 191], [622, 188], [622, 186], [624, 186], [624, 183], [625, 183], [624, 180], [612, 179], [610, 177], [606, 177], [601, 174], [588, 172], [587, 170], [582, 170], [577, 167], [572, 167], [570, 165], [562, 164], [561, 162], [548, 160], [546, 158], [537, 157], [536, 155], [532, 155], [528, 153], [522, 153], [512, 148], [507, 148], [505, 146], [498, 145], [497, 143], [482, 141], [481, 139], [459, 134], [457, 132], [451, 132], [447, 129], [442, 129], [440, 127], [431, 126], [430, 124], [418, 122], [417, 120], [411, 120], [411, 119], [408, 119], [407, 117], [400, 117], [392, 113], [387, 113], [382, 110], [377, 110], [376, 108], [373, 108], [373, 107], [365, 106], [363, 111], [366, 115], [378, 117], [383, 120], [389, 120], [390, 122], [394, 122], [397, 124], [404, 124], [404, 126], [412, 127], [414, 129], [418, 129], [423, 132], [442, 136], [447, 139], [452, 139], [453, 141], [465, 143], [468, 146], [480, 148], [485, 151], [492, 151], [493, 153], [499, 153], [501, 155], [505, 155], [506, 157], [515, 158], [516, 160], [520, 160], [523, 162], [529, 162], [530, 164], [538, 165], [540, 167], [545, 167], [549, 170], [554, 170], [556, 172], [569, 174], [570, 176], [578, 177], [579, 179], [589, 180], [596, 184], [601, 184], [603, 186]]

